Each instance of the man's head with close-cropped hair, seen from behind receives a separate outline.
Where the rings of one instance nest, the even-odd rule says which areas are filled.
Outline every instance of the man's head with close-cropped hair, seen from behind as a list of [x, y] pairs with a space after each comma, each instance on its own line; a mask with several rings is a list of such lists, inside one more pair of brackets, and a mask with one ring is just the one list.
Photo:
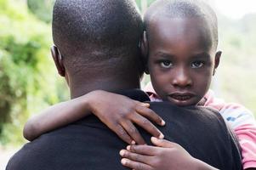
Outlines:
[[133, 0], [56, 0], [52, 53], [71, 95], [138, 88], [142, 27]]

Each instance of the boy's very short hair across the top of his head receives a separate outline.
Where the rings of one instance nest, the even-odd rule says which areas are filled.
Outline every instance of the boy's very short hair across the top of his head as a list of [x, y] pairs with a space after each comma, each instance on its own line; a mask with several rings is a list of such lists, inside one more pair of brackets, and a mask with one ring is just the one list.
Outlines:
[[200, 0], [158, 0], [152, 3], [145, 14], [145, 29], [149, 28], [152, 20], [157, 20], [159, 15], [170, 18], [193, 18], [204, 19], [213, 35], [213, 46], [218, 46], [218, 21], [213, 8]]

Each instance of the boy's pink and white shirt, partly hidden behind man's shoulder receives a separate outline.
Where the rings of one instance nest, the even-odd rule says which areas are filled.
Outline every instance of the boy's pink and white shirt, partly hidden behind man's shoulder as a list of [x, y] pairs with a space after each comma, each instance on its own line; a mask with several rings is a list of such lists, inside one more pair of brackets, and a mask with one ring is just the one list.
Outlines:
[[[150, 95], [151, 101], [161, 101], [151, 83], [144, 90]], [[253, 113], [242, 105], [226, 103], [223, 99], [216, 98], [212, 90], [208, 91], [203, 100], [203, 106], [218, 110], [235, 131], [242, 148], [243, 169], [256, 167], [256, 122]]]

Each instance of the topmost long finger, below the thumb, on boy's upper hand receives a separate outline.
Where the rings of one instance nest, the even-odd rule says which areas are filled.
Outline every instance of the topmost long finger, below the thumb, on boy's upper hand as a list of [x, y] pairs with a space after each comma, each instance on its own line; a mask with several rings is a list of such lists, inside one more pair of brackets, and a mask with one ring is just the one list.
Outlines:
[[[144, 103], [143, 103], [144, 104]], [[149, 105], [149, 104], [148, 104]], [[156, 122], [160, 126], [164, 126], [165, 122], [162, 120], [161, 116], [158, 116], [155, 111], [152, 111], [148, 107], [143, 105], [137, 105], [135, 109], [140, 115], [149, 118], [152, 122]]]

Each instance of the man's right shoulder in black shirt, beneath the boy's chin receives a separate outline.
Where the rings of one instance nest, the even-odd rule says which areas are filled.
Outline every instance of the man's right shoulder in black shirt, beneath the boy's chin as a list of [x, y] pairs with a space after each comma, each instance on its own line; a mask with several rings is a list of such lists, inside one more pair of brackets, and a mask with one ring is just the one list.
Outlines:
[[166, 122], [159, 127], [165, 138], [180, 144], [191, 156], [219, 169], [241, 169], [237, 141], [218, 111], [169, 102], [151, 102], [151, 109]]

